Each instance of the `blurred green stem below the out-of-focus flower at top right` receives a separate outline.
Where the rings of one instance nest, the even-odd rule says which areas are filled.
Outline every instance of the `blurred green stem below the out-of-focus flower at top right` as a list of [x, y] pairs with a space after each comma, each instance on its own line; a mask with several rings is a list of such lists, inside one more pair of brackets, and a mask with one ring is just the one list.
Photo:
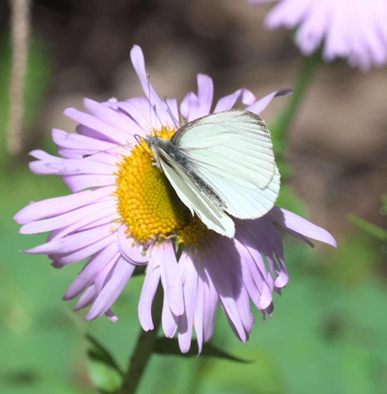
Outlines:
[[271, 133], [275, 142], [275, 153], [282, 156], [284, 151], [284, 141], [289, 130], [289, 126], [293, 121], [300, 101], [306, 92], [306, 88], [310, 84], [312, 77], [315, 73], [317, 65], [321, 63], [321, 54], [317, 51], [312, 56], [303, 59], [301, 71], [297, 78], [293, 95], [289, 99], [289, 104], [278, 115], [275, 123], [271, 125]]

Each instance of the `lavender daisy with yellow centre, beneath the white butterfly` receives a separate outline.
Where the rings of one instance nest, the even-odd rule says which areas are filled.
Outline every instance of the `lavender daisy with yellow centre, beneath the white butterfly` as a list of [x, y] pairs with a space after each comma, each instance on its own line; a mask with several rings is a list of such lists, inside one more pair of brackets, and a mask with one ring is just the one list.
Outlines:
[[[180, 126], [178, 119], [192, 121], [210, 113], [212, 79], [198, 74], [197, 94], [188, 93], [179, 110], [176, 99], [163, 101], [148, 87], [139, 46], [131, 50], [131, 60], [147, 98], [103, 103], [85, 99], [89, 113], [75, 108], [64, 112], [79, 122], [76, 134], [52, 131], [61, 157], [40, 150], [30, 153], [38, 159], [30, 163], [31, 171], [62, 175], [72, 194], [31, 203], [18, 212], [15, 220], [23, 224], [21, 233], [50, 231], [46, 243], [25, 252], [48, 255], [56, 268], [89, 258], [63, 297], [81, 294], [76, 310], [91, 305], [86, 320], [105, 314], [116, 321], [112, 304], [135, 267], [147, 264], [138, 303], [145, 331], [154, 328], [151, 305], [161, 281], [162, 327], [167, 337], [178, 333], [181, 351], [190, 348], [193, 326], [199, 352], [210, 340], [218, 304], [245, 342], [253, 328], [249, 297], [264, 317], [271, 316], [273, 291], [280, 292], [288, 280], [273, 222], [308, 243], [306, 236], [334, 246], [335, 240], [326, 230], [277, 207], [258, 220], [236, 221], [233, 239], [192, 217], [152, 165], [152, 151], [136, 143], [135, 134], [146, 137], [152, 131], [171, 138]], [[221, 98], [213, 112], [229, 110], [239, 100], [247, 110], [260, 113], [274, 97], [287, 93], [288, 89], [275, 91], [256, 100], [251, 91], [238, 89]], [[177, 262], [179, 245], [183, 251]]]

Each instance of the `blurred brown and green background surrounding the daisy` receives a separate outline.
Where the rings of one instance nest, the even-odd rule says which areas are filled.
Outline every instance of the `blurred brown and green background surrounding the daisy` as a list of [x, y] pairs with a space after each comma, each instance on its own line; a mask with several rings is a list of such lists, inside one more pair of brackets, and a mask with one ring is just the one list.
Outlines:
[[[197, 72], [214, 78], [216, 99], [241, 86], [261, 97], [292, 87], [300, 67], [287, 32], [261, 27], [265, 8], [228, 0], [211, 6], [200, 0], [106, 3], [32, 2], [18, 157], [6, 151], [11, 44], [9, 9], [0, 5], [1, 393], [96, 392], [85, 335], [94, 335], [126, 368], [139, 332], [141, 276], [114, 304], [118, 322], [85, 322], [84, 311], [72, 312], [76, 301], [61, 301], [82, 264], [53, 269], [45, 256], [19, 253], [46, 235], [18, 234], [13, 215], [29, 201], [68, 193], [59, 177], [35, 176], [27, 167], [31, 149], [55, 154], [50, 128], [74, 130], [61, 110], [81, 108], [83, 96], [142, 95], [129, 61], [133, 43], [142, 46], [159, 95], [179, 100], [196, 90]], [[253, 362], [153, 355], [140, 393], [387, 392], [387, 245], [346, 216], [385, 226], [387, 116], [380, 86], [386, 82], [385, 70], [361, 74], [339, 63], [323, 67], [311, 83], [284, 141], [289, 183], [277, 205], [323, 226], [339, 246], [310, 249], [285, 238], [289, 284], [282, 296], [275, 294], [273, 319], [262, 322], [252, 306], [256, 323], [246, 345], [218, 311], [212, 343]], [[286, 100], [275, 99], [265, 111], [269, 123]]]

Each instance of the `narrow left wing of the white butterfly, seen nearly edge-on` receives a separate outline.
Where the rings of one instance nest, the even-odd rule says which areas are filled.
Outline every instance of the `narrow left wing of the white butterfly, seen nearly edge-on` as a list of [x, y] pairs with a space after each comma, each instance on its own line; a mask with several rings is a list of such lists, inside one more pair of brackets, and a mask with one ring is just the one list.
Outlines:
[[172, 160], [162, 149], [157, 147], [156, 150], [160, 167], [191, 214], [197, 214], [209, 229], [232, 238], [235, 234], [234, 221], [201, 191], [184, 167]]

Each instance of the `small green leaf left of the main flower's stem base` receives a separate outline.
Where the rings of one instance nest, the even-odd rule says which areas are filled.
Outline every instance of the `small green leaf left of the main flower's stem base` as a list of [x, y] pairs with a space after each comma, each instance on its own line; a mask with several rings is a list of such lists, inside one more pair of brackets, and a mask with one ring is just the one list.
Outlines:
[[92, 345], [87, 351], [91, 381], [101, 393], [114, 393], [122, 384], [123, 372], [109, 351], [93, 336], [87, 334]]

